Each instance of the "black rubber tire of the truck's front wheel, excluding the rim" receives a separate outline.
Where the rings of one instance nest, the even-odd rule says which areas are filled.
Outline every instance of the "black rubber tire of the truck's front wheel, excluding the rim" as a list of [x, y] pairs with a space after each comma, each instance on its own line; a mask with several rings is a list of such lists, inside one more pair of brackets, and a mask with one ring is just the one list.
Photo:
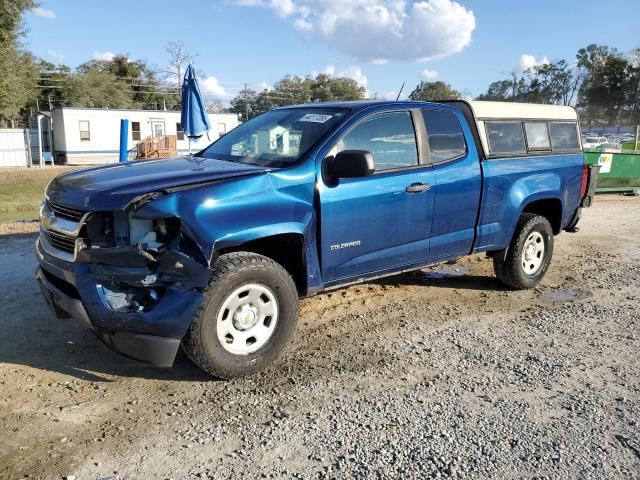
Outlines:
[[[245, 284], [259, 284], [275, 296], [278, 318], [268, 341], [256, 352], [237, 355], [227, 351], [217, 334], [218, 312], [225, 299]], [[182, 346], [198, 367], [219, 378], [240, 377], [271, 364], [289, 343], [298, 322], [298, 292], [289, 273], [262, 255], [234, 252], [221, 255], [213, 266], [205, 301], [196, 314]]]

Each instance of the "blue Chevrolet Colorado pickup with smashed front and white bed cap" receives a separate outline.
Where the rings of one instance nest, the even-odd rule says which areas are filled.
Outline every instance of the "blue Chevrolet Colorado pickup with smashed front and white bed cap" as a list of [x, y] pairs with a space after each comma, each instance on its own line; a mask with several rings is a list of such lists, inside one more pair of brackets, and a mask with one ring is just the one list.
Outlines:
[[166, 367], [182, 345], [230, 378], [277, 358], [300, 297], [479, 252], [533, 287], [596, 175], [571, 107], [279, 108], [193, 156], [56, 177], [36, 278], [112, 349]]

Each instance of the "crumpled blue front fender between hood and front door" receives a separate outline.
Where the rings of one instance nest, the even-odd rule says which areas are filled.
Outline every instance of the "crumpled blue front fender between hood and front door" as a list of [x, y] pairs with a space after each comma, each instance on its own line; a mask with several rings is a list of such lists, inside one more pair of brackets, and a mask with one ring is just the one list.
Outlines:
[[[305, 240], [310, 284], [319, 282], [309, 162], [160, 197], [136, 217], [180, 218], [183, 231], [211, 262], [217, 252], [267, 236], [295, 233]], [[314, 261], [315, 260], [315, 261]], [[311, 286], [311, 285], [310, 285]]]

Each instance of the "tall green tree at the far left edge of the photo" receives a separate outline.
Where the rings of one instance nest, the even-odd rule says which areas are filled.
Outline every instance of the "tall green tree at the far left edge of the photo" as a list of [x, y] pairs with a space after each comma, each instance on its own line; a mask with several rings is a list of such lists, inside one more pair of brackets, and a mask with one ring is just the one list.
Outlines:
[[22, 14], [32, 0], [0, 0], [0, 125], [24, 124], [26, 105], [37, 96], [37, 68], [22, 49]]

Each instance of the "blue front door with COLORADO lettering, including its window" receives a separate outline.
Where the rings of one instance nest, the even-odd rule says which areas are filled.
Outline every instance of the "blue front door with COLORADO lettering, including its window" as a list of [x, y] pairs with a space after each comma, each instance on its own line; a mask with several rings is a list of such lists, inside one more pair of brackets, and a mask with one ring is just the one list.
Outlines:
[[433, 172], [421, 165], [409, 110], [372, 114], [349, 130], [329, 155], [372, 153], [375, 173], [320, 180], [321, 264], [327, 284], [427, 260]]

